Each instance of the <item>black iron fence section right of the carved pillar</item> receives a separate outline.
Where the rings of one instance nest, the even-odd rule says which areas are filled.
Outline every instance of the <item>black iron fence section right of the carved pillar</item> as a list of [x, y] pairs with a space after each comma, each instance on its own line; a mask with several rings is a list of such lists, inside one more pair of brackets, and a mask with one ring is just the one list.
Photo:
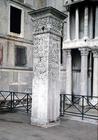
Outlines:
[[98, 120], [98, 97], [61, 94], [60, 116], [64, 115]]

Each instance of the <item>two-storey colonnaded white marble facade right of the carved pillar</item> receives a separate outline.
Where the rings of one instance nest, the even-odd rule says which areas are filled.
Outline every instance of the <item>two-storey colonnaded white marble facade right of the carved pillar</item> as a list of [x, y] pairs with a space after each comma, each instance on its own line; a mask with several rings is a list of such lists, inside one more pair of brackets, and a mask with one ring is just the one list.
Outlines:
[[98, 96], [98, 3], [66, 1], [67, 34], [63, 53], [66, 56], [66, 94]]

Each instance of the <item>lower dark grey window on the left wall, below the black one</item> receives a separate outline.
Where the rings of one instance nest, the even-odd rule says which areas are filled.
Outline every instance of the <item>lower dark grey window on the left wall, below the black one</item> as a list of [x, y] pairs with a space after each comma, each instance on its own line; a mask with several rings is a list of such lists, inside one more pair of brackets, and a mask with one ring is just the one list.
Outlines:
[[25, 47], [16, 46], [15, 48], [15, 66], [26, 66], [27, 55]]

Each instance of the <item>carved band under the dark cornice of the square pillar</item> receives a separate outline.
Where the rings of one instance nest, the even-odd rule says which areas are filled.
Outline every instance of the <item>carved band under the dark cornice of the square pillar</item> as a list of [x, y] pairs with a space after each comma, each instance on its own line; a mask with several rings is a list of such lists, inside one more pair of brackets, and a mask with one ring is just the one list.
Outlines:
[[62, 22], [53, 16], [33, 20], [33, 34], [52, 32], [61, 35]]

